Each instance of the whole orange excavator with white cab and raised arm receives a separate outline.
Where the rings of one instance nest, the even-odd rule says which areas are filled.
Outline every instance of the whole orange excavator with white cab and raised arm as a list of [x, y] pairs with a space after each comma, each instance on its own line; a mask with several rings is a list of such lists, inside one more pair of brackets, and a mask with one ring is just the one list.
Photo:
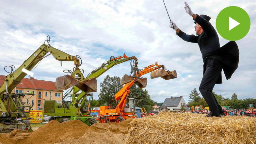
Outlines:
[[[177, 78], [176, 71], [168, 71], [164, 65], [158, 65], [157, 62], [142, 70], [137, 67], [138, 62], [132, 67], [131, 74], [125, 74], [121, 79], [121, 85], [125, 84], [114, 96], [117, 105], [100, 106], [101, 123], [106, 122], [121, 122], [128, 118], [136, 118], [135, 99], [128, 98], [129, 89], [133, 84], [139, 88], [147, 86], [147, 78], [141, 78], [142, 75], [151, 72], [151, 79], [161, 77], [165, 80]], [[161, 69], [162, 68], [162, 69]], [[134, 73], [132, 75], [132, 73]]]

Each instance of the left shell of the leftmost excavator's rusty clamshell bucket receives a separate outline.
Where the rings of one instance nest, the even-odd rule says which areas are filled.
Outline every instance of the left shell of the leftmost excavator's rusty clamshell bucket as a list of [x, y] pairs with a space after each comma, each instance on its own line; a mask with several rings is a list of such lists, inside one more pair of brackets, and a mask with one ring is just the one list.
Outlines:
[[80, 82], [70, 75], [64, 75], [56, 78], [55, 89], [56, 91], [71, 88]]

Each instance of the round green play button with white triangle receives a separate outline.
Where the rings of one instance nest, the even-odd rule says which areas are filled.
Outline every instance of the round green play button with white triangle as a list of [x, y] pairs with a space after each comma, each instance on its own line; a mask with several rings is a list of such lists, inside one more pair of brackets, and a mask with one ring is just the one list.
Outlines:
[[226, 40], [240, 40], [250, 29], [250, 18], [243, 8], [231, 6], [222, 9], [216, 18], [218, 33]]

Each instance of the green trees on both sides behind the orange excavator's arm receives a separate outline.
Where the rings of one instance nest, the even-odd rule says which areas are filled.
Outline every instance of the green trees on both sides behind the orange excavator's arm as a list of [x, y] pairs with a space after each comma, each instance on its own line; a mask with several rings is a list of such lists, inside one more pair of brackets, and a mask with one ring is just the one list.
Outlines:
[[[117, 105], [114, 95], [122, 88], [121, 79], [117, 76], [107, 75], [103, 82], [100, 83], [100, 94], [98, 95], [98, 100], [92, 101], [92, 107], [100, 106], [115, 106]], [[144, 107], [146, 110], [153, 110], [153, 105], [156, 104], [148, 94], [146, 89], [141, 89], [134, 84], [130, 88], [130, 98], [135, 99], [136, 107]]]

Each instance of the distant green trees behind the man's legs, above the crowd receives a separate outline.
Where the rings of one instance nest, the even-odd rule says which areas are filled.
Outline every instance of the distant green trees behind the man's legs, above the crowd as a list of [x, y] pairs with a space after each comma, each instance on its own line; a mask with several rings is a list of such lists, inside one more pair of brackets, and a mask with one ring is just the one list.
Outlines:
[[[237, 95], [235, 93], [232, 94], [231, 98], [224, 98], [222, 95], [217, 95], [215, 92], [213, 92], [213, 94], [215, 95], [216, 100], [220, 105], [228, 105], [234, 109], [247, 109], [248, 104], [256, 105], [256, 99], [247, 98], [240, 100], [237, 98]], [[189, 99], [191, 99], [188, 102], [188, 105], [190, 105], [190, 107], [192, 105], [203, 105], [203, 107], [208, 106], [205, 100], [200, 97], [200, 93], [197, 91], [196, 88], [194, 88], [189, 94]]]

